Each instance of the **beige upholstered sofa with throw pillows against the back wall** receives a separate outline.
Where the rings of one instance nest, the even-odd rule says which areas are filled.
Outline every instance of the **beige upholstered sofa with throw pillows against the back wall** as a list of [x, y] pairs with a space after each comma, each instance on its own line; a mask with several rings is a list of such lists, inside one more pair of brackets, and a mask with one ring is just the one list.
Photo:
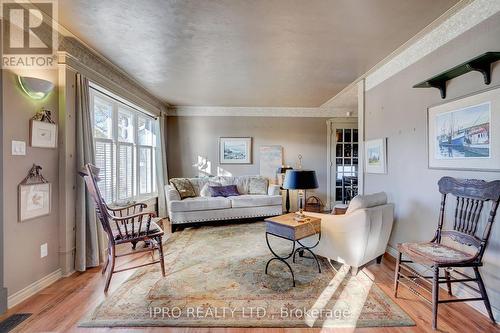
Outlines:
[[[196, 197], [183, 200], [172, 185], [166, 185], [165, 193], [172, 231], [193, 223], [281, 215], [283, 207], [280, 187], [271, 184], [267, 186], [266, 193], [252, 194], [249, 182], [251, 178], [256, 177], [259, 176], [189, 178]], [[206, 196], [202, 189], [207, 183], [236, 185], [241, 195], [227, 198]]]

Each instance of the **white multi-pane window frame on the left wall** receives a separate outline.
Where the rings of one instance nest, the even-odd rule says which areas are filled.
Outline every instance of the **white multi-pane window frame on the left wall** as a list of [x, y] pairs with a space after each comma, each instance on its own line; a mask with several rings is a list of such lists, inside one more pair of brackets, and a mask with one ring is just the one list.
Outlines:
[[[156, 142], [153, 140], [151, 142], [151, 145], [145, 145], [145, 144], [139, 144], [139, 127], [138, 127], [138, 118], [142, 117], [145, 119], [148, 119], [152, 122], [152, 128], [153, 131], [156, 135], [158, 135], [158, 124], [157, 120], [149, 115], [146, 112], [143, 112], [139, 110], [138, 108], [135, 108], [132, 105], [127, 105], [127, 103], [124, 102], [122, 98], [115, 98], [114, 96], [110, 96], [109, 93], [107, 93], [104, 89], [100, 90], [98, 87], [95, 85], [90, 86], [90, 108], [91, 108], [91, 122], [92, 122], [92, 138], [94, 140], [94, 146], [97, 142], [105, 142], [105, 143], [111, 143], [111, 149], [112, 149], [112, 161], [111, 161], [111, 168], [112, 168], [112, 193], [111, 193], [111, 202], [110, 204], [123, 204], [126, 202], [131, 202], [131, 201], [141, 201], [144, 199], [148, 199], [151, 197], [157, 197], [158, 192], [156, 190], [156, 172], [154, 168], [156, 167]], [[103, 139], [103, 138], [96, 138], [95, 137], [95, 131], [94, 131], [94, 125], [95, 125], [95, 119], [94, 119], [94, 98], [95, 96], [98, 96], [100, 99], [103, 99], [107, 102], [109, 102], [112, 105], [112, 115], [111, 115], [111, 122], [112, 122], [112, 138], [111, 139]], [[131, 113], [132, 115], [132, 123], [133, 123], [133, 142], [123, 142], [118, 139], [118, 115], [119, 115], [119, 110], [123, 109], [124, 111], [127, 111]], [[133, 156], [133, 163], [132, 163], [132, 196], [127, 197], [127, 198], [120, 198], [119, 197], [119, 188], [118, 188], [118, 178], [119, 178], [119, 171], [120, 171], [120, 160], [119, 160], [119, 149], [121, 146], [128, 146], [132, 147], [132, 156]], [[141, 148], [147, 148], [151, 152], [151, 170], [149, 172], [151, 173], [151, 184], [150, 188], [151, 191], [147, 193], [141, 193], [140, 191], [140, 168], [139, 168], [139, 163], [140, 163], [140, 155], [139, 155], [139, 149]]]

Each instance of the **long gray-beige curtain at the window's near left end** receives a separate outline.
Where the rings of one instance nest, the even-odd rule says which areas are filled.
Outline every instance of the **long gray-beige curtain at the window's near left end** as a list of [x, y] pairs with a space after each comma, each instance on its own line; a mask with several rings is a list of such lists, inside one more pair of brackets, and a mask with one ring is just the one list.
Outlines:
[[[90, 116], [89, 80], [76, 75], [76, 165], [95, 164]], [[75, 170], [78, 171], [78, 170]], [[94, 204], [82, 177], [76, 176], [75, 269], [99, 266], [104, 259], [104, 235], [96, 219]]]

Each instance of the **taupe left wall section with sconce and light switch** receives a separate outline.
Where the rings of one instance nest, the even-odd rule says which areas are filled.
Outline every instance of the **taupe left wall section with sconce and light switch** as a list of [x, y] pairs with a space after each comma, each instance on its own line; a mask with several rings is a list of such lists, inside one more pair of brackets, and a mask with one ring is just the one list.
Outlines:
[[[4, 181], [4, 277], [9, 295], [59, 268], [58, 238], [58, 150], [29, 146], [29, 119], [42, 106], [53, 111], [57, 121], [57, 88], [42, 101], [30, 99], [21, 91], [16, 74], [47, 79], [57, 85], [57, 70], [29, 72], [2, 71], [3, 181]], [[12, 156], [12, 140], [26, 142], [26, 156]], [[52, 183], [50, 215], [25, 222], [18, 221], [17, 186], [33, 163], [42, 166], [44, 177]], [[40, 245], [48, 244], [48, 256], [40, 258]]]

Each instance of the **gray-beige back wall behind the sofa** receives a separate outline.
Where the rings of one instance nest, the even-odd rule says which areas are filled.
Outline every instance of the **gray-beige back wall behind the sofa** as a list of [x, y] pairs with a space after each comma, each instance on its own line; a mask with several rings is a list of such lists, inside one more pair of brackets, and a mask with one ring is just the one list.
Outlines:
[[[194, 177], [193, 164], [198, 156], [211, 162], [211, 173], [217, 168], [232, 175], [259, 174], [259, 147], [283, 146], [284, 163], [296, 167], [297, 155], [303, 156], [304, 169], [315, 170], [320, 187], [317, 193], [326, 203], [326, 119], [280, 117], [167, 117], [167, 155], [169, 177]], [[219, 165], [219, 137], [253, 138], [251, 165]]]

